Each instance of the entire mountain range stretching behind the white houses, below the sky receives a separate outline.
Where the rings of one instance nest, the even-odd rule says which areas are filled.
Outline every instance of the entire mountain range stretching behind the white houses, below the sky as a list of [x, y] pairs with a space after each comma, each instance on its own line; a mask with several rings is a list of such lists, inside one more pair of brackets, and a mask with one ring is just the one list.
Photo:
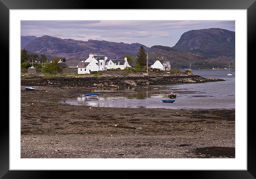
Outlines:
[[21, 36], [21, 48], [30, 53], [66, 59], [87, 58], [90, 52], [119, 58], [130, 55], [136, 58], [139, 48], [148, 51], [149, 63], [156, 58], [167, 58], [174, 67], [188, 67], [189, 63], [207, 64], [235, 61], [235, 32], [221, 28], [191, 30], [182, 34], [173, 47], [156, 45], [146, 47], [140, 43], [117, 43], [99, 40], [78, 41], [48, 35], [42, 37]]

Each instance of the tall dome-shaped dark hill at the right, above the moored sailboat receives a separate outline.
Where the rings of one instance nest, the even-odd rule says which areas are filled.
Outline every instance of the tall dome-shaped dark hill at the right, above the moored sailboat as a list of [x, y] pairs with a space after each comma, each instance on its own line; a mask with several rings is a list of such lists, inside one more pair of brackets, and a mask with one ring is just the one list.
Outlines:
[[235, 32], [221, 28], [187, 31], [172, 48], [206, 58], [235, 58]]

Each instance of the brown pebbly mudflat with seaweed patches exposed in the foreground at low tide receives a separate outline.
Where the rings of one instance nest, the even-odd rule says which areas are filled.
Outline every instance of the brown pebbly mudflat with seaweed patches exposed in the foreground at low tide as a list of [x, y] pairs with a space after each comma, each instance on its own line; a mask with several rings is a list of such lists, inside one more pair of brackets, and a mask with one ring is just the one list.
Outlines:
[[79, 88], [33, 87], [21, 86], [21, 158], [235, 158], [235, 109], [90, 108], [51, 102]]

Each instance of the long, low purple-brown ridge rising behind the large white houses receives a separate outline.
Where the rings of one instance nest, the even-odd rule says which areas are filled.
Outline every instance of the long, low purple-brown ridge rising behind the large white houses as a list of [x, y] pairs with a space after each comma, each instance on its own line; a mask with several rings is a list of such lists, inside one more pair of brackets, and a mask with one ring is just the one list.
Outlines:
[[[66, 58], [88, 57], [90, 52], [98, 55], [105, 55], [108, 58], [124, 56], [124, 54], [134, 56], [139, 47], [144, 46], [140, 43], [117, 43], [99, 40], [77, 41], [73, 39], [61, 39], [51, 36], [35, 38], [26, 44], [25, 48], [33, 53], [44, 53], [49, 56], [59, 56]], [[144, 46], [146, 50], [149, 47]]]

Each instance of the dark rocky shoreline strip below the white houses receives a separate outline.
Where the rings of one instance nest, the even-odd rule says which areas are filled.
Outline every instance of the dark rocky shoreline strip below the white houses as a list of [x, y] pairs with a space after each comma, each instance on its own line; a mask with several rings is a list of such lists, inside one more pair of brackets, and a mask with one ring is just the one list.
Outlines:
[[123, 87], [123, 86], [142, 86], [142, 85], [161, 85], [161, 84], [182, 84], [182, 83], [205, 83], [212, 81], [224, 81], [216, 78], [203, 78], [195, 74], [169, 74], [159, 76], [129, 76], [120, 75], [112, 77], [30, 77], [21, 78], [22, 86], [52, 86], [52, 87]]

